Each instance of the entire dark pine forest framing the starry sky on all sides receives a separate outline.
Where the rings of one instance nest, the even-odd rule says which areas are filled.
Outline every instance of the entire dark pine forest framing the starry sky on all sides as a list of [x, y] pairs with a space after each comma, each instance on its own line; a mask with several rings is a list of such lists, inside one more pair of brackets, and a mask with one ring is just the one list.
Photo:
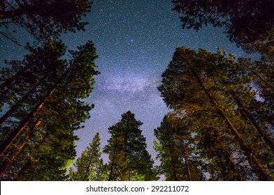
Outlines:
[[62, 36], [85, 31], [93, 2], [1, 1], [0, 43], [27, 54], [0, 65], [0, 180], [274, 180], [274, 1], [169, 3], [180, 28], [223, 28], [259, 58], [177, 47], [157, 87], [169, 112], [151, 130], [153, 158], [132, 111], [108, 127], [106, 146], [97, 132], [76, 155], [75, 132], [96, 106], [86, 99], [100, 56], [92, 40], [71, 50]]

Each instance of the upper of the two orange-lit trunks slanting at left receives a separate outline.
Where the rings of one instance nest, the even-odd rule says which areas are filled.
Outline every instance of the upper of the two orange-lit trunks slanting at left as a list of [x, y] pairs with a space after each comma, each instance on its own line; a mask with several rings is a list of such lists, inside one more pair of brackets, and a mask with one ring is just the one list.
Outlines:
[[36, 107], [34, 107], [34, 109], [32, 109], [32, 111], [27, 115], [27, 117], [21, 121], [21, 123], [17, 126], [17, 128], [15, 128], [15, 130], [13, 130], [13, 132], [8, 136], [8, 138], [1, 143], [0, 155], [3, 155], [6, 152], [6, 150], [10, 147], [10, 145], [13, 143], [13, 141], [21, 134], [21, 132], [24, 130], [24, 128], [27, 127], [27, 125], [29, 124], [31, 119], [34, 118], [34, 116], [36, 116], [38, 111], [40, 111], [40, 109], [43, 107], [45, 102], [50, 98], [52, 93], [55, 92], [57, 86], [61, 83], [61, 81], [64, 79], [64, 77], [66, 77], [66, 75], [68, 75], [69, 70], [70, 70], [70, 68], [68, 68], [66, 70], [66, 72], [64, 72], [62, 77], [60, 77], [56, 81], [56, 83], [50, 88], [50, 90], [45, 94], [45, 96], [36, 105]]

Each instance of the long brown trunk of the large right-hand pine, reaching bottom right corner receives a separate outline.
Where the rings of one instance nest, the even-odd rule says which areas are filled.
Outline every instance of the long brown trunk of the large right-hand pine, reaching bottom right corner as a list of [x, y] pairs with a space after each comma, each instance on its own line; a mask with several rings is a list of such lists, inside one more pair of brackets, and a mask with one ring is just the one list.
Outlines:
[[248, 162], [250, 163], [250, 166], [252, 166], [254, 173], [256, 173], [257, 176], [259, 176], [260, 180], [272, 180], [271, 177], [266, 172], [266, 170], [264, 169], [264, 166], [262, 166], [261, 162], [259, 162], [259, 159], [257, 159], [257, 157], [253, 154], [252, 148], [250, 148], [250, 146], [243, 140], [243, 138], [241, 137], [236, 127], [234, 127], [233, 123], [231, 123], [231, 120], [229, 120], [229, 118], [226, 117], [226, 114], [224, 113], [224, 111], [221, 109], [221, 107], [219, 107], [219, 105], [214, 100], [212, 95], [210, 95], [208, 89], [206, 88], [206, 86], [204, 86], [203, 82], [201, 81], [201, 78], [197, 75], [197, 73], [195, 72], [194, 68], [192, 68], [190, 63], [189, 63], [189, 68], [192, 71], [196, 80], [199, 82], [199, 85], [201, 86], [201, 88], [203, 88], [203, 91], [208, 96], [208, 99], [210, 100], [212, 106], [215, 107], [215, 109], [217, 109], [219, 116], [221, 116], [224, 119], [224, 122], [231, 130], [231, 133], [234, 135], [234, 137], [238, 141], [240, 148], [243, 150], [244, 155], [247, 157]]

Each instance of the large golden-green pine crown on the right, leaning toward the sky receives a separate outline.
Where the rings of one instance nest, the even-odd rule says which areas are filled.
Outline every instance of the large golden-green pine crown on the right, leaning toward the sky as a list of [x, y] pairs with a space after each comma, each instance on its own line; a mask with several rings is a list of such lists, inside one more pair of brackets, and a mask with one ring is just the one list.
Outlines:
[[261, 125], [256, 109], [250, 111], [257, 99], [251, 84], [260, 79], [247, 62], [236, 63], [220, 50], [178, 47], [159, 86], [168, 107], [192, 124], [205, 169], [217, 180], [271, 180], [273, 175], [273, 169], [265, 169], [266, 159], [273, 160], [273, 127], [266, 120], [267, 126]]

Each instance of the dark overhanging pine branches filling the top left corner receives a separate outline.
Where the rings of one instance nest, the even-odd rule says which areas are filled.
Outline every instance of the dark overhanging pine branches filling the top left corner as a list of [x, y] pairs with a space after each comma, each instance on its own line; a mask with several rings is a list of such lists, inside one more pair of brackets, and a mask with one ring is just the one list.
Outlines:
[[88, 0], [4, 0], [0, 5], [0, 34], [17, 42], [8, 31], [10, 24], [15, 24], [39, 41], [58, 38], [66, 31], [83, 30], [87, 22], [81, 22], [82, 16], [90, 12], [91, 6]]

